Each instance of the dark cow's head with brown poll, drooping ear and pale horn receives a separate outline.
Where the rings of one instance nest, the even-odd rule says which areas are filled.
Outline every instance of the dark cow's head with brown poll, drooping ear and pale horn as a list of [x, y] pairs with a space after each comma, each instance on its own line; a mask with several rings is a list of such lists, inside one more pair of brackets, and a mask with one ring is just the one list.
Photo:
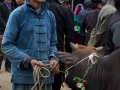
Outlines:
[[[77, 45], [71, 43], [71, 48], [73, 49], [72, 53], [67, 52], [55, 52], [55, 55], [57, 58], [69, 68], [71, 65], [76, 64], [83, 58], [87, 57], [88, 55], [92, 53], [97, 53], [96, 48], [92, 46], [83, 46], [83, 45]], [[83, 77], [83, 74], [88, 67], [87, 65], [88, 61], [85, 60], [82, 63], [79, 63], [78, 65], [74, 66], [69, 70], [69, 75], [67, 75], [65, 82], [72, 88], [72, 90], [79, 90], [76, 87], [76, 84], [73, 82], [73, 78], [75, 76]]]

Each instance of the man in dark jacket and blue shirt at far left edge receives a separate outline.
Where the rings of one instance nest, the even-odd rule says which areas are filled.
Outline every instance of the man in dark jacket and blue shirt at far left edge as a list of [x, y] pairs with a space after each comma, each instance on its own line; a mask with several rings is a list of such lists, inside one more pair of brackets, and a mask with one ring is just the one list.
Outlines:
[[[15, 9], [15, 7], [14, 7], [12, 0], [4, 0], [0, 4], [0, 46], [2, 43], [2, 37], [3, 37], [3, 33], [5, 31], [5, 28], [6, 28], [6, 24], [7, 24], [9, 15], [14, 9]], [[1, 69], [3, 57], [4, 57], [4, 54], [0, 50], [0, 69]], [[5, 69], [6, 69], [6, 71], [10, 72], [11, 62], [8, 60], [8, 58], [6, 58], [6, 60], [5, 60]]]

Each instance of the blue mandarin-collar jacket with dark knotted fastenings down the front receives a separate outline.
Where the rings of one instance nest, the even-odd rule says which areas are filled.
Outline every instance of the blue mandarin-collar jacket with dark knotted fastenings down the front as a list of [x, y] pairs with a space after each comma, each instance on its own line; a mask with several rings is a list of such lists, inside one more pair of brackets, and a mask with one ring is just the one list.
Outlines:
[[[30, 5], [24, 4], [15, 9], [8, 20], [2, 41], [2, 51], [12, 64], [11, 81], [21, 84], [34, 84], [33, 69], [21, 68], [21, 63], [28, 56], [38, 61], [57, 58], [56, 22], [48, 4], [43, 3], [41, 13]], [[49, 62], [47, 62], [49, 63]], [[51, 73], [47, 83], [54, 81]]]

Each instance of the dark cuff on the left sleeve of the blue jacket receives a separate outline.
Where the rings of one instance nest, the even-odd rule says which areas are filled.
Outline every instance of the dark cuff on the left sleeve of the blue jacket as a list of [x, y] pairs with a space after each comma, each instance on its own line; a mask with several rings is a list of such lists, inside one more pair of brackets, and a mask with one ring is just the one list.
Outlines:
[[33, 59], [32, 57], [30, 57], [29, 55], [26, 55], [24, 57], [24, 61], [21, 64], [21, 68], [22, 69], [28, 69], [30, 67], [30, 62], [31, 62], [32, 59]]

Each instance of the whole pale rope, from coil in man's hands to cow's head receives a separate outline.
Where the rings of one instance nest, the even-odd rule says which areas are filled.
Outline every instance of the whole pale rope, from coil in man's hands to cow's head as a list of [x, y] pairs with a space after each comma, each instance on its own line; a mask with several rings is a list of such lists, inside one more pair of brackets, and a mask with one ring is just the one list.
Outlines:
[[[76, 64], [72, 65], [71, 67], [69, 67], [68, 69], [64, 71], [60, 71], [61, 73], [68, 73], [68, 71], [73, 68], [74, 66], [78, 65], [79, 63], [81, 63], [82, 61], [84, 61], [85, 59], [89, 58], [88, 62], [91, 61], [91, 63], [93, 64], [93, 57], [97, 56], [96, 53], [90, 54], [89, 56], [83, 58], [81, 61], [77, 62]], [[98, 57], [98, 56], [97, 56]], [[52, 64], [52, 63], [51, 63]], [[50, 76], [50, 71], [49, 69], [47, 69], [46, 67], [50, 66], [50, 64], [45, 64], [45, 67], [40, 67], [38, 65], [34, 66], [34, 70], [33, 70], [33, 79], [34, 79], [34, 86], [32, 87], [31, 90], [38, 90], [37, 89], [37, 85], [39, 86], [39, 90], [42, 90], [42, 86], [45, 84], [46, 79]], [[42, 71], [44, 71], [42, 73]], [[86, 74], [83, 76], [83, 78], [86, 76]], [[40, 84], [40, 78], [42, 78], [42, 83]], [[47, 85], [47, 84], [45, 84]], [[47, 90], [47, 86], [45, 86], [46, 90]]]

